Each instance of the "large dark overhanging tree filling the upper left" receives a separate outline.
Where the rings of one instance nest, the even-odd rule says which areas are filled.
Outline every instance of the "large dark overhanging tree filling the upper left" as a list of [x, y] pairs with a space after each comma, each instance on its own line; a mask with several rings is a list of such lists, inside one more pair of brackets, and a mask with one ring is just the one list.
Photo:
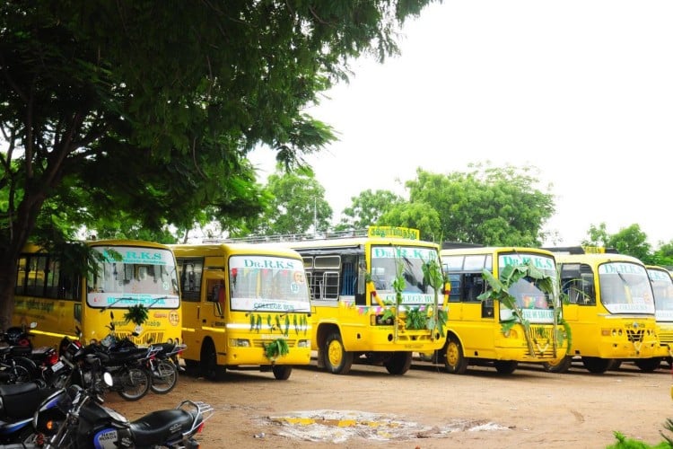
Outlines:
[[158, 230], [263, 210], [249, 150], [293, 168], [333, 140], [303, 110], [354, 57], [395, 54], [429, 2], [0, 4], [0, 327], [29, 238], [120, 213]]

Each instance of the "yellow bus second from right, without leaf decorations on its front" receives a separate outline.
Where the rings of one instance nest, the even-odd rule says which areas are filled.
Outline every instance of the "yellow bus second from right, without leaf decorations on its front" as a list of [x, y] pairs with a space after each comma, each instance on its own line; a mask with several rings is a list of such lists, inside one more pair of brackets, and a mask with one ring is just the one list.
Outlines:
[[641, 260], [616, 253], [556, 254], [571, 353], [547, 371], [564, 373], [574, 357], [591, 373], [621, 360], [651, 370], [660, 354], [651, 283]]

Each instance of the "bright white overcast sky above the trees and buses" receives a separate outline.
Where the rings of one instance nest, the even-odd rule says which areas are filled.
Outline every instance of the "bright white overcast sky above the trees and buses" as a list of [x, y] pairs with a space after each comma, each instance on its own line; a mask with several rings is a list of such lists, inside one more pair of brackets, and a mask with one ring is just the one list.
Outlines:
[[[673, 2], [433, 4], [406, 23], [401, 57], [363, 59], [310, 110], [340, 140], [307, 160], [334, 220], [364, 189], [404, 193], [415, 170], [529, 164], [551, 182], [547, 230], [638, 224], [673, 240]], [[250, 155], [260, 180], [274, 154]]]

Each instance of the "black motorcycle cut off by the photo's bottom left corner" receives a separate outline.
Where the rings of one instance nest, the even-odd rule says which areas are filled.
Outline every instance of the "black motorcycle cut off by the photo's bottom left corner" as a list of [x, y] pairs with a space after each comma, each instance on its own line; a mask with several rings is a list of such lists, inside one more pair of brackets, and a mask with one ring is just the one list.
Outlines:
[[[44, 388], [41, 383], [0, 385], [0, 445], [4, 448], [39, 447], [40, 436], [32, 426], [35, 411], [57, 389]], [[45, 410], [54, 404], [46, 405]]]

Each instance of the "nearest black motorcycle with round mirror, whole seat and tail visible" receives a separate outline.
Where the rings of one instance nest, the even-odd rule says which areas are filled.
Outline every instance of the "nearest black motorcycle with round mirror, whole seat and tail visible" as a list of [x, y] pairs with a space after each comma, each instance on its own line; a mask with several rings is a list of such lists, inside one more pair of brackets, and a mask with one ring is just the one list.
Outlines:
[[[95, 370], [101, 369], [98, 365]], [[108, 388], [112, 376], [101, 375]], [[72, 385], [61, 390], [58, 408], [40, 408], [33, 425], [48, 436], [46, 449], [167, 447], [170, 449], [199, 447], [195, 436], [214, 413], [213, 407], [201, 401], [182, 401], [175, 409], [148, 413], [135, 421], [103, 405], [96, 388]], [[48, 404], [45, 404], [48, 407]], [[48, 429], [56, 429], [49, 434]]]

